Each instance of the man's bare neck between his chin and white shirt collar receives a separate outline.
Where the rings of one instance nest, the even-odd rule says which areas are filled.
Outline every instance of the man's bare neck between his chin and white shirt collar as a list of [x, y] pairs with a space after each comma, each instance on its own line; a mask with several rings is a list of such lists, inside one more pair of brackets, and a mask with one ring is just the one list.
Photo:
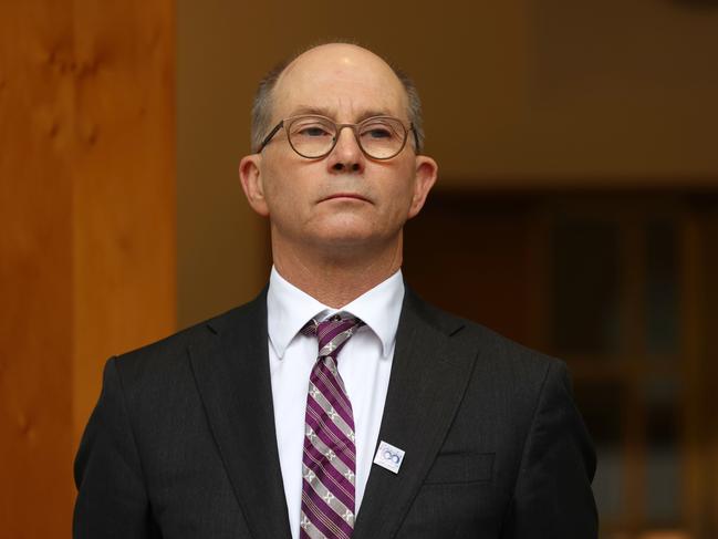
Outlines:
[[378, 249], [291, 248], [272, 238], [277, 271], [325, 305], [341, 309], [396, 273], [402, 267], [402, 236]]

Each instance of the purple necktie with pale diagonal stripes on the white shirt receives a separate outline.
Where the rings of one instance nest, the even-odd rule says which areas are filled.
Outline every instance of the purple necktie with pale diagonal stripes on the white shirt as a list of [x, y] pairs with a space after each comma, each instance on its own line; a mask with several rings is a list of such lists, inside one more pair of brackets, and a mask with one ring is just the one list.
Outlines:
[[300, 538], [350, 539], [354, 530], [354, 416], [336, 356], [362, 325], [334, 315], [301, 330], [319, 339], [319, 357], [306, 395]]

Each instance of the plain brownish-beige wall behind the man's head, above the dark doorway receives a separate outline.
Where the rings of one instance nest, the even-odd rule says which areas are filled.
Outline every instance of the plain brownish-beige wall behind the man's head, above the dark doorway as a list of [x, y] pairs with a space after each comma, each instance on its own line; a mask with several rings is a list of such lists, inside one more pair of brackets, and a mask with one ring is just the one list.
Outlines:
[[251, 298], [237, 164], [260, 76], [351, 38], [417, 81], [439, 188], [718, 183], [718, 10], [668, 0], [178, 1], [179, 323]]

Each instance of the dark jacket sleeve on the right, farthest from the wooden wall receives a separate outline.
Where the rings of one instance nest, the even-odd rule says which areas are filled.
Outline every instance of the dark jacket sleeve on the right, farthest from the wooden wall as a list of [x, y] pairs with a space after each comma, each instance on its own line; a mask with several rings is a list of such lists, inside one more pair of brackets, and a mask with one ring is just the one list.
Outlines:
[[548, 370], [526, 438], [503, 539], [595, 539], [593, 444], [575, 407], [565, 365]]

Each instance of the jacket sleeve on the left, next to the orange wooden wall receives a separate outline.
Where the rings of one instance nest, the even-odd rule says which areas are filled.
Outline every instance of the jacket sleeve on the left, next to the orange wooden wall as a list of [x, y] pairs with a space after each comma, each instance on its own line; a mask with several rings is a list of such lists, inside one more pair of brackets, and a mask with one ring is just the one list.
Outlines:
[[159, 537], [150, 519], [142, 464], [116, 359], [107, 361], [100, 401], [75, 457], [73, 537]]

